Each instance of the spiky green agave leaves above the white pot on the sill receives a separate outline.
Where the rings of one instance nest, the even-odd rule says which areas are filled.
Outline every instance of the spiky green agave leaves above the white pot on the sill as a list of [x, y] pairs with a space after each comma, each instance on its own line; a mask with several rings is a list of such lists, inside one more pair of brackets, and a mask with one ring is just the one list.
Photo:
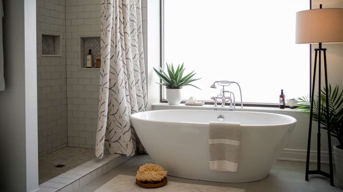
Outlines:
[[183, 86], [193, 86], [193, 87], [200, 89], [199, 87], [190, 84], [190, 82], [201, 79], [201, 78], [199, 78], [199, 79], [193, 79], [192, 78], [196, 74], [196, 73], [194, 73], [194, 71], [192, 71], [190, 74], [182, 77], [182, 75], [185, 71], [184, 63], [182, 63], [181, 66], [178, 65], [176, 70], [174, 69], [173, 64], [168, 65], [168, 63], [167, 63], [168, 75], [163, 71], [163, 69], [161, 67], [160, 67], [160, 71], [158, 71], [155, 68], [154, 68], [154, 70], [157, 73], [158, 77], [163, 81], [162, 83], [156, 82], [159, 85], [166, 86], [169, 89], [180, 89]]

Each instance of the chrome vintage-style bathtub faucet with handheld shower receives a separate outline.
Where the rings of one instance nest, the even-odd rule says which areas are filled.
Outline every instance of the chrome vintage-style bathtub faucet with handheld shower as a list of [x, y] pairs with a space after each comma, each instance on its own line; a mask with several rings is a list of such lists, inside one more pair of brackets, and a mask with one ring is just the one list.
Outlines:
[[[225, 103], [230, 101], [230, 111], [235, 111], [236, 110], [236, 101], [235, 101], [235, 94], [231, 91], [225, 91], [225, 87], [229, 86], [231, 83], [237, 84], [238, 88], [239, 88], [239, 93], [240, 93], [240, 106], [241, 108], [243, 108], [243, 101], [242, 101], [242, 92], [240, 89], [240, 86], [237, 82], [234, 81], [226, 81], [226, 80], [222, 80], [222, 81], [214, 81], [214, 83], [211, 85], [211, 88], [217, 88], [217, 86], [215, 84], [218, 84], [219, 86], [223, 86], [223, 89], [220, 90], [220, 94], [218, 94], [216, 97], [211, 97], [212, 100], [214, 100], [214, 107], [217, 107], [217, 99], [221, 99], [222, 100], [222, 105], [221, 107], [225, 107]], [[230, 96], [225, 96], [225, 93], [229, 93]]]

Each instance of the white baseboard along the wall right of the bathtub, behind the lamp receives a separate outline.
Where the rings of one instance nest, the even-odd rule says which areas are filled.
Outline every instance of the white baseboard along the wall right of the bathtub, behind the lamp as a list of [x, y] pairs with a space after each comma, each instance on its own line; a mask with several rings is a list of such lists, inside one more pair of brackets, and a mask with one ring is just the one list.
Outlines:
[[[329, 152], [328, 151], [321, 151], [320, 152], [320, 161], [324, 164], [329, 164]], [[297, 161], [297, 162], [306, 162], [306, 150], [300, 149], [283, 149], [281, 155], [277, 160], [283, 161]], [[333, 157], [332, 152], [332, 161], [333, 164], [335, 163], [335, 159]], [[317, 151], [310, 151], [310, 163], [317, 163]]]

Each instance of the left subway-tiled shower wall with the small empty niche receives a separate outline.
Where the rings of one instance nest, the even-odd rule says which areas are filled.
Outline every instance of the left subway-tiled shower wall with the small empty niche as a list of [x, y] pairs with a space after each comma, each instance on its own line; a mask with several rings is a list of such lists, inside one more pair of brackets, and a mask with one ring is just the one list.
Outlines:
[[[39, 156], [62, 149], [68, 142], [65, 27], [64, 0], [37, 0]], [[42, 57], [42, 33], [60, 35], [60, 57]]]

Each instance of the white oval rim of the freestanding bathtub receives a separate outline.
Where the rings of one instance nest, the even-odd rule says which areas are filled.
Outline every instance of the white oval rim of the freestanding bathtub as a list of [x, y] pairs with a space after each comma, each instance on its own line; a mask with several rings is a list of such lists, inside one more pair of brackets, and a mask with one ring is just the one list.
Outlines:
[[[142, 112], [138, 112], [138, 113], [149, 113], [149, 112], [152, 112], [152, 111], [214, 111], [214, 110], [180, 110], [180, 109], [173, 109], [173, 110], [151, 110], [151, 111], [142, 111]], [[218, 111], [217, 111], [218, 112]], [[231, 111], [222, 111], [222, 112], [225, 112], [225, 113], [228, 113], [228, 112], [231, 112]], [[244, 127], [256, 127], [256, 126], [259, 126], [259, 127], [271, 127], [271, 126], [286, 126], [286, 125], [292, 125], [292, 124], [295, 124], [297, 122], [297, 119], [292, 117], [292, 116], [289, 116], [289, 115], [283, 115], [283, 114], [277, 114], [277, 113], [266, 113], [266, 112], [254, 112], [254, 111], [233, 111], [235, 113], [260, 113], [260, 114], [273, 114], [273, 115], [277, 115], [277, 116], [286, 116], [288, 118], [291, 118], [292, 121], [289, 122], [289, 123], [284, 123], [284, 124], [269, 124], [269, 125], [244, 125], [244, 124], [240, 124], [241, 126], [244, 126]], [[175, 122], [175, 121], [163, 121], [163, 120], [151, 120], [151, 119], [144, 119], [144, 118], [138, 118], [138, 117], [135, 117], [137, 116], [136, 114], [138, 113], [134, 113], [134, 114], [131, 114], [130, 117], [133, 118], [133, 119], [138, 119], [138, 120], [142, 120], [142, 121], [149, 121], [149, 122], [155, 122], [155, 123], [170, 123], [170, 124], [189, 124], [189, 125], [209, 125], [209, 123], [195, 123], [195, 122], [184, 122], [184, 121], [181, 121], [181, 122]]]

